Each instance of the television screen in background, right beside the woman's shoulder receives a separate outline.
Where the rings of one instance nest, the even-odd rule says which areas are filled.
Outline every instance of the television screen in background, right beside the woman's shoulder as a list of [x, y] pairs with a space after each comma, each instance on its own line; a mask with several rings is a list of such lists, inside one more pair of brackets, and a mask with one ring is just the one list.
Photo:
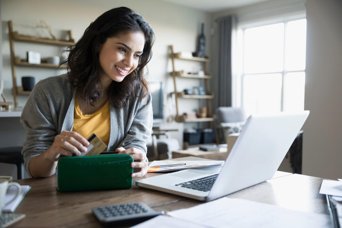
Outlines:
[[152, 95], [153, 119], [163, 118], [163, 83], [149, 82]]

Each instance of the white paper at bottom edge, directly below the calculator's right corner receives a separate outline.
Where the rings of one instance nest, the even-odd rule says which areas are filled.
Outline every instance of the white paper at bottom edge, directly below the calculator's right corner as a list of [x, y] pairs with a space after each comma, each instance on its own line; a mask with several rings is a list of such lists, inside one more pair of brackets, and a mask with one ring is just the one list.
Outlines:
[[200, 226], [193, 224], [191, 222], [182, 221], [176, 218], [172, 218], [165, 215], [159, 215], [152, 219], [149, 219], [143, 223], [140, 223], [132, 228], [205, 228], [205, 226]]

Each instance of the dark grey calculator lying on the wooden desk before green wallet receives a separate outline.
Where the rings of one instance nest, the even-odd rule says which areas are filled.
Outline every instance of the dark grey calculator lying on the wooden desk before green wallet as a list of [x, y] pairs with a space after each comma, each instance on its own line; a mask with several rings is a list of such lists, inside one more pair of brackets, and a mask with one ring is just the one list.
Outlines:
[[163, 211], [154, 211], [142, 202], [93, 207], [92, 212], [104, 225], [137, 224], [164, 214]]

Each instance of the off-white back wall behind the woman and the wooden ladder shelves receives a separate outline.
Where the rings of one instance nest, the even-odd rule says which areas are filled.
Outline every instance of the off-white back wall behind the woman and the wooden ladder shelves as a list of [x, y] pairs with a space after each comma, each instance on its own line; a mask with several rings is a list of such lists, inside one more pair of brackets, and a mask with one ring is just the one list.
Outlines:
[[[12, 101], [11, 94], [12, 77], [10, 68], [10, 48], [8, 40], [7, 21], [13, 21], [14, 30], [19, 33], [41, 35], [46, 32], [33, 30], [30, 26], [35, 26], [40, 19], [43, 19], [51, 26], [52, 32], [57, 38], [65, 38], [63, 30], [72, 30], [73, 37], [78, 40], [89, 24], [105, 11], [118, 6], [127, 6], [141, 14], [148, 21], [155, 34], [156, 42], [153, 47], [153, 58], [148, 64], [149, 81], [165, 81], [166, 93], [174, 88], [173, 80], [169, 72], [172, 71], [171, 60], [168, 55], [168, 45], [174, 46], [175, 52], [196, 50], [196, 40], [200, 31], [200, 24], [205, 23], [205, 33], [207, 37], [207, 54], [210, 54], [210, 14], [199, 10], [186, 8], [168, 2], [156, 0], [2, 0], [1, 22], [2, 22], [2, 48], [3, 48], [3, 79], [5, 83], [5, 95]], [[25, 58], [27, 50], [38, 51], [42, 57], [58, 55], [58, 48], [49, 45], [29, 44], [15, 42], [15, 55]], [[179, 70], [195, 70], [197, 63], [188, 61], [177, 61], [176, 67]], [[16, 67], [17, 84], [21, 85], [21, 77], [32, 75], [36, 82], [49, 77], [61, 74], [65, 70], [40, 69], [30, 67]], [[199, 85], [197, 80], [178, 80], [177, 89], [182, 91], [185, 88]], [[24, 106], [27, 96], [20, 96], [19, 106]], [[165, 98], [165, 101], [167, 99]], [[189, 100], [182, 105], [182, 111], [191, 111], [198, 108], [197, 100]], [[169, 99], [165, 102], [165, 116], [174, 114], [175, 109]]]

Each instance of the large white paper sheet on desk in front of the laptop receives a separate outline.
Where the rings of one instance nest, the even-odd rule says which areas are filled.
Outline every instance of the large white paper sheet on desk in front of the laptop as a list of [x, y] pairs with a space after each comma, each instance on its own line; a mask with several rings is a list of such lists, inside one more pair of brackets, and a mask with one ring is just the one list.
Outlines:
[[326, 214], [294, 211], [244, 199], [223, 197], [188, 209], [168, 212], [168, 215], [210, 227], [234, 228], [303, 228], [330, 227]]

